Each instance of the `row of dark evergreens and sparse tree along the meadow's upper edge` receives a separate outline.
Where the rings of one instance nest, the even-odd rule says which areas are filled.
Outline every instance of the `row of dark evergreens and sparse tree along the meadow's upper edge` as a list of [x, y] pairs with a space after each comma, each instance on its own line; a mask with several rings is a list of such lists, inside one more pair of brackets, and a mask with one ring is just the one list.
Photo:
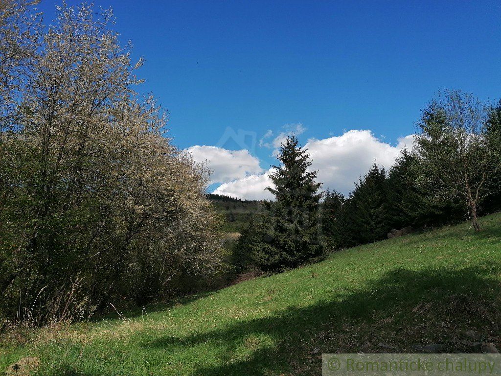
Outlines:
[[464, 220], [481, 231], [478, 216], [501, 210], [501, 101], [447, 90], [417, 125], [412, 149], [389, 170], [374, 162], [348, 197], [327, 191], [321, 199], [307, 151], [289, 138], [272, 175], [276, 201], [242, 231], [236, 270], [283, 271], [329, 251]]

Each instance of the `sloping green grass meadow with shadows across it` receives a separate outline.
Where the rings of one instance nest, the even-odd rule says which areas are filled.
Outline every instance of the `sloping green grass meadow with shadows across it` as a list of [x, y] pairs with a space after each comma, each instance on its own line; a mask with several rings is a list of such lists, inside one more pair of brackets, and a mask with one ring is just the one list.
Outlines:
[[[499, 344], [501, 215], [360, 246], [168, 309], [39, 331], [0, 347], [0, 371], [46, 375], [319, 374], [320, 352], [412, 352], [476, 329]], [[131, 316], [129, 316], [131, 317]], [[379, 345], [378, 345], [379, 343]]]

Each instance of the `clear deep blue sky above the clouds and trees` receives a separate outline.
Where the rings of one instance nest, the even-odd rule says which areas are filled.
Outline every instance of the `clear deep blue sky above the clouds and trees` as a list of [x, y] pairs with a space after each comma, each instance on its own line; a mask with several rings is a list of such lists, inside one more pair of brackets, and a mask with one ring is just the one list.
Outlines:
[[[113, 8], [114, 29], [132, 41], [135, 59], [144, 57], [140, 90], [168, 110], [168, 134], [178, 147], [247, 148], [263, 170], [274, 162], [273, 150], [259, 146], [268, 130], [276, 137], [302, 124], [303, 143], [371, 130], [395, 146], [415, 132], [437, 90], [501, 97], [495, 1], [95, 5]], [[55, 2], [42, 0], [39, 9], [50, 24]], [[228, 127], [248, 132], [256, 147], [221, 141]]]

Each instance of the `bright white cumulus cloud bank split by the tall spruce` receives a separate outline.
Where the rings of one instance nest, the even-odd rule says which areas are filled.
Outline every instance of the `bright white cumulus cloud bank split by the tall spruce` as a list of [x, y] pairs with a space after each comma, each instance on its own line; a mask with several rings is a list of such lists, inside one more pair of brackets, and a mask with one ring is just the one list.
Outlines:
[[[312, 169], [319, 170], [323, 189], [335, 189], [347, 195], [354, 182], [376, 161], [389, 168], [404, 148], [412, 149], [413, 135], [400, 137], [396, 146], [383, 142], [370, 130], [350, 130], [340, 136], [310, 139], [305, 145], [313, 160]], [[272, 199], [267, 186], [272, 185], [270, 170], [245, 176], [219, 186], [214, 193], [239, 199]]]

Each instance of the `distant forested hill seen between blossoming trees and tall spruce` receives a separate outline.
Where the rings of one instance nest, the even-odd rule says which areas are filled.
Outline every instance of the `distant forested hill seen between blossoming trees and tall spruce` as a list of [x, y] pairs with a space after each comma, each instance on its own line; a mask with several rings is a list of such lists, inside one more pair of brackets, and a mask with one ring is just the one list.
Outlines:
[[228, 232], [241, 232], [253, 214], [265, 210], [262, 200], [240, 200], [213, 194], [207, 195], [207, 199], [214, 204], [218, 213], [224, 215]]

